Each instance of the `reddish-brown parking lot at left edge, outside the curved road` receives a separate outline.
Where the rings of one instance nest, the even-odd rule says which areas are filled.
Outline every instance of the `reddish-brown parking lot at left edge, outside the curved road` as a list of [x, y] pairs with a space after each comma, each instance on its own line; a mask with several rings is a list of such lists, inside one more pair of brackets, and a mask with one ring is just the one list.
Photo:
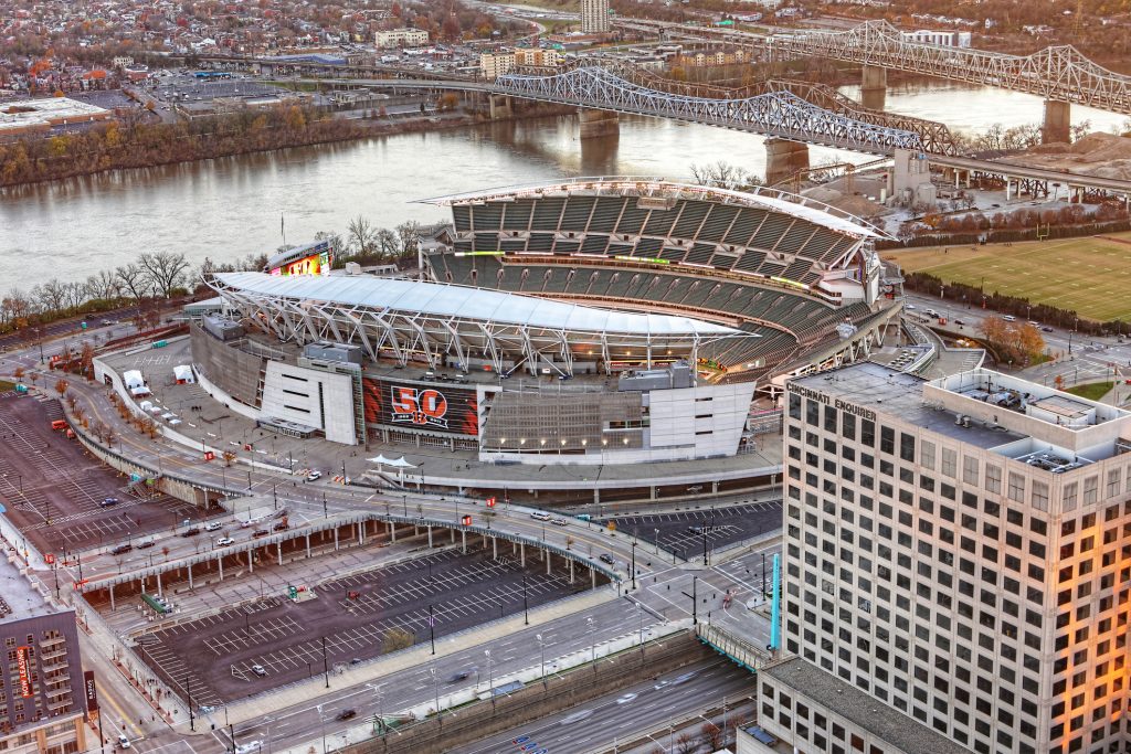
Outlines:
[[[45, 553], [129, 540], [172, 527], [196, 509], [132, 484], [51, 422], [53, 399], [0, 393], [0, 499], [12, 523]], [[103, 506], [107, 497], [119, 502]]]

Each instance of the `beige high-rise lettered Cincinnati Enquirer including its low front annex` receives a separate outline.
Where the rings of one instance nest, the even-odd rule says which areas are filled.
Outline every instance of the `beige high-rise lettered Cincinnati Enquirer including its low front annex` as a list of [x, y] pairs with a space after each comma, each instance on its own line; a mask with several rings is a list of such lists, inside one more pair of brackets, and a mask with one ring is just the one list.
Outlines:
[[1131, 414], [870, 363], [787, 400], [759, 725], [805, 753], [1129, 751]]

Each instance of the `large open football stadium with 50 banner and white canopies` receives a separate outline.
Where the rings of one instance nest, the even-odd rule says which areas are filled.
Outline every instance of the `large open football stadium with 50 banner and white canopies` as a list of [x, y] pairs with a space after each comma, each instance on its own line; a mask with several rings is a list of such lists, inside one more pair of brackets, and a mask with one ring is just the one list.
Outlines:
[[[786, 375], [865, 355], [896, 313], [882, 233], [778, 191], [612, 177], [426, 201], [452, 222], [418, 279], [326, 275], [307, 248], [210, 276], [227, 313], [192, 326], [200, 383], [261, 427], [346, 444], [734, 459]], [[308, 251], [318, 274], [288, 274]]]

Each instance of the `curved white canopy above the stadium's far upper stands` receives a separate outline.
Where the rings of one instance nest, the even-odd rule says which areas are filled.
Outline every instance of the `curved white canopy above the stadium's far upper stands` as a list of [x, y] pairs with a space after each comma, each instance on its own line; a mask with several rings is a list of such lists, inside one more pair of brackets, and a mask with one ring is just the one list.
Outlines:
[[777, 189], [758, 187], [750, 191], [735, 191], [708, 185], [692, 185], [662, 177], [632, 175], [577, 177], [554, 183], [503, 187], [455, 193], [420, 200], [422, 203], [451, 206], [499, 199], [539, 198], [555, 194], [633, 196], [672, 199], [702, 199], [719, 203], [757, 207], [808, 220], [830, 231], [860, 239], [887, 239], [887, 233], [864, 219], [817, 201]]

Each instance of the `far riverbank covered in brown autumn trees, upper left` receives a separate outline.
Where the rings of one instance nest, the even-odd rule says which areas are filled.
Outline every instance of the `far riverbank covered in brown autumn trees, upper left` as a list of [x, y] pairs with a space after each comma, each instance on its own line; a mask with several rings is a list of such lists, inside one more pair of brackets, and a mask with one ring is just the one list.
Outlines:
[[[572, 112], [572, 107], [535, 105], [499, 120]], [[489, 119], [475, 111], [340, 119], [310, 107], [274, 107], [181, 123], [112, 122], [84, 132], [0, 144], [0, 188], [485, 122]]]

